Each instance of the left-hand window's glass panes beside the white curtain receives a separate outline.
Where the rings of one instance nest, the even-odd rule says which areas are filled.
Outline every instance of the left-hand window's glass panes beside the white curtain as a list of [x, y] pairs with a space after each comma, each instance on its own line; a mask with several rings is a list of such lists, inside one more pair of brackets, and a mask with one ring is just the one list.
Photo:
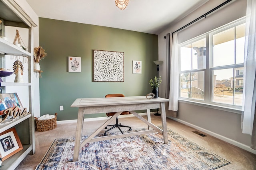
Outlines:
[[205, 36], [181, 46], [179, 51], [180, 97], [204, 100], [204, 71], [201, 70], [206, 68]]

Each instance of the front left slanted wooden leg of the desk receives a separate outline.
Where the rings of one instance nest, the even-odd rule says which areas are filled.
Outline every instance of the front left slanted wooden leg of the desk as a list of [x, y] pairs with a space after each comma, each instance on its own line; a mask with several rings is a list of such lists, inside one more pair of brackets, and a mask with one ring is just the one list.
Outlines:
[[82, 139], [83, 124], [84, 124], [84, 107], [80, 107], [78, 109], [78, 118], [77, 118], [77, 124], [76, 124], [76, 139], [75, 139], [75, 146], [74, 146], [73, 162], [78, 161], [80, 143]]

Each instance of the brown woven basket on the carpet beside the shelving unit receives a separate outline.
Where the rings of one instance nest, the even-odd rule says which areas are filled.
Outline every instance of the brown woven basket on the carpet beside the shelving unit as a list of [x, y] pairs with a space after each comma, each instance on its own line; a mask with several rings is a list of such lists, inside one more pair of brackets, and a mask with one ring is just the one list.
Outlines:
[[36, 131], [44, 132], [48, 130], [55, 129], [57, 127], [57, 113], [55, 113], [55, 118], [48, 119], [48, 120], [38, 120], [36, 119]]

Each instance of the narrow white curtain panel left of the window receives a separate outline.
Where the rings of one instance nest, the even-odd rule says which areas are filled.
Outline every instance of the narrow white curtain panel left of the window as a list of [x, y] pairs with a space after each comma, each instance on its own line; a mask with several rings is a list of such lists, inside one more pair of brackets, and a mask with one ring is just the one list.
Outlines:
[[178, 63], [178, 32], [172, 35], [172, 53], [170, 66], [169, 110], [178, 110], [179, 96], [179, 63]]

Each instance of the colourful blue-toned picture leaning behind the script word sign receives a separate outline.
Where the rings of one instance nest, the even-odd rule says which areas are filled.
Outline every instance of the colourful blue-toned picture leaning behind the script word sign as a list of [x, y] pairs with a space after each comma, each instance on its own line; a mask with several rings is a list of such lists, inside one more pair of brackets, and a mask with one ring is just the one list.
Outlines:
[[18, 106], [20, 110], [24, 109], [17, 93], [0, 94], [0, 115], [3, 115], [4, 110], [7, 108], [14, 108], [16, 106]]

